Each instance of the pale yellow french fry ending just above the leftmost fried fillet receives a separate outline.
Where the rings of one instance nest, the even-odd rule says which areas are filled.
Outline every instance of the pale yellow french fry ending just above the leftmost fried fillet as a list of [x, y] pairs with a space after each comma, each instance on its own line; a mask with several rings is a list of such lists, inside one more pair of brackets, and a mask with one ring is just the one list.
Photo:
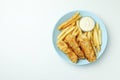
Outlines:
[[66, 35], [68, 35], [69, 33], [71, 33], [74, 30], [75, 27], [68, 27], [66, 29], [64, 29], [57, 37], [58, 40], [63, 40], [65, 38]]

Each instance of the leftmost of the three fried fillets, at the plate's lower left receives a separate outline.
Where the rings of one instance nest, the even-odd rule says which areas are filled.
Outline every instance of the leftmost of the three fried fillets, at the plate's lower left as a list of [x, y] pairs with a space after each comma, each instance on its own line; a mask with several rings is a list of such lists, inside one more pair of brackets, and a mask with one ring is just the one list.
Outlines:
[[77, 55], [72, 51], [71, 48], [68, 47], [68, 45], [64, 41], [57, 42], [57, 46], [61, 51], [63, 51], [68, 56], [68, 58], [73, 63], [77, 63], [78, 61]]

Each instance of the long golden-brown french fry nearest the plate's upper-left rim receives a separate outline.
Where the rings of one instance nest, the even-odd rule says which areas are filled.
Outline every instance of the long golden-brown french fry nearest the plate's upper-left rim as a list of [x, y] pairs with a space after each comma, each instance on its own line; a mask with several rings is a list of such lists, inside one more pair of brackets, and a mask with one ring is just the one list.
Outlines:
[[73, 24], [76, 20], [80, 19], [79, 13], [75, 13], [70, 19], [68, 19], [66, 22], [62, 23], [60, 26], [58, 26], [58, 30], [63, 30], [69, 25]]

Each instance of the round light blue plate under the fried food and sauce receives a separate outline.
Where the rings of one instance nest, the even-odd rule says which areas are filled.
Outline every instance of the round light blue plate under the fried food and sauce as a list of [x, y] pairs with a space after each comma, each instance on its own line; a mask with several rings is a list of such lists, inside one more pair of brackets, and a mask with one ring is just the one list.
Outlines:
[[107, 46], [107, 31], [105, 28], [104, 23], [100, 18], [98, 18], [96, 15], [87, 12], [87, 11], [73, 11], [70, 13], [67, 13], [64, 15], [55, 25], [54, 31], [53, 31], [53, 45], [55, 50], [57, 51], [57, 54], [60, 55], [66, 62], [74, 64], [74, 65], [85, 65], [89, 64], [91, 62], [88, 62], [86, 59], [85, 60], [79, 60], [78, 63], [72, 63], [70, 59], [57, 47], [56, 41], [57, 41], [57, 36], [60, 34], [60, 31], [57, 29], [57, 27], [62, 24], [64, 21], [68, 20], [71, 16], [73, 16], [76, 12], [79, 12], [81, 16], [89, 16], [92, 17], [95, 22], [100, 24], [100, 29], [102, 30], [102, 46], [101, 46], [101, 51], [98, 53], [97, 59], [103, 54], [106, 46]]

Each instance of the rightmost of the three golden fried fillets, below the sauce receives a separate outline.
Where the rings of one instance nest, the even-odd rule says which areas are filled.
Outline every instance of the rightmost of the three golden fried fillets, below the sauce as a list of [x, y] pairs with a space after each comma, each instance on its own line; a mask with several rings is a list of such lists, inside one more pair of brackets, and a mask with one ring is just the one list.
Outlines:
[[96, 54], [94, 52], [94, 49], [91, 45], [91, 42], [86, 37], [85, 34], [79, 35], [77, 37], [77, 40], [79, 41], [79, 45], [81, 46], [82, 50], [84, 51], [85, 57], [89, 62], [94, 62], [96, 60]]

